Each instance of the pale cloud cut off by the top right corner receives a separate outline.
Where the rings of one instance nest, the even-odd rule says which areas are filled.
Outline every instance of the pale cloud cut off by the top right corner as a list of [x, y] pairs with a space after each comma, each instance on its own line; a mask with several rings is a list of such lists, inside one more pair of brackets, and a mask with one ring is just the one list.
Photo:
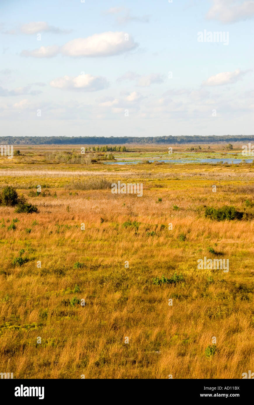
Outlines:
[[246, 20], [254, 17], [254, 1], [213, 0], [213, 6], [207, 13], [207, 19], [223, 23]]

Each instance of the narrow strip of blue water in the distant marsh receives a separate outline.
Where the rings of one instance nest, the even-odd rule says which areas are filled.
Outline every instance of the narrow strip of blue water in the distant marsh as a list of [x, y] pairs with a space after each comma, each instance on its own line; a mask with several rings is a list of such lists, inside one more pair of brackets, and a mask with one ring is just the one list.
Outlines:
[[[116, 159], [117, 160], [117, 159]], [[123, 160], [123, 159], [121, 159]], [[163, 162], [163, 163], [217, 163], [217, 162], [223, 162], [223, 163], [229, 163], [229, 164], [237, 164], [241, 163], [243, 159], [216, 159], [216, 158], [211, 158], [211, 159], [192, 159], [192, 160], [186, 160], [186, 159], [163, 159], [163, 160], [158, 160], [157, 158], [146, 158], [144, 160], [149, 160], [149, 162]], [[252, 163], [253, 159], [246, 159], [246, 163]], [[142, 160], [126, 160], [125, 162], [103, 162], [104, 164], [138, 164], [142, 163]]]

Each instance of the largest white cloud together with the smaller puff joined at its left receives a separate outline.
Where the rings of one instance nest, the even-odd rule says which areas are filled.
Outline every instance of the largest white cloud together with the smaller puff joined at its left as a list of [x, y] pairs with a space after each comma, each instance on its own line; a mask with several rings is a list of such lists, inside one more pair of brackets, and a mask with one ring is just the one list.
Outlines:
[[138, 46], [133, 38], [125, 32], [103, 32], [87, 38], [75, 38], [62, 47], [57, 45], [40, 47], [33, 51], [24, 50], [22, 56], [33, 58], [52, 58], [58, 53], [71, 57], [112, 56], [131, 51]]

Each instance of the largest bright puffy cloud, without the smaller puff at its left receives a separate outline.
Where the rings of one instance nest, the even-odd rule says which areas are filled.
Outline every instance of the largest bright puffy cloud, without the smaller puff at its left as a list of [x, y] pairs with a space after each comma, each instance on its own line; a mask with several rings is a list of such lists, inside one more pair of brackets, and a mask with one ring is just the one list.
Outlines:
[[125, 32], [103, 32], [87, 38], [76, 38], [61, 49], [68, 56], [111, 56], [130, 51], [138, 46]]

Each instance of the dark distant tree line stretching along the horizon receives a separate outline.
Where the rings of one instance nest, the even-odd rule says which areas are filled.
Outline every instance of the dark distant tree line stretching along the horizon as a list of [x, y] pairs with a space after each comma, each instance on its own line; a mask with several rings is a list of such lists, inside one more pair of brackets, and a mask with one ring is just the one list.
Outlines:
[[2, 145], [123, 145], [250, 142], [254, 135], [209, 136], [1, 136]]

